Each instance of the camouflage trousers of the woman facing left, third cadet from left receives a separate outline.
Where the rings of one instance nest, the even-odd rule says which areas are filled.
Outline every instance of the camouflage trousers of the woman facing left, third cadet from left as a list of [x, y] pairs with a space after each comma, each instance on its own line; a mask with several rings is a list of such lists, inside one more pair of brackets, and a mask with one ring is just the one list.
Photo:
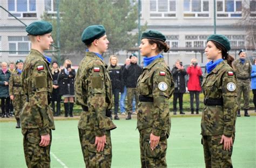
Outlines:
[[152, 151], [149, 143], [151, 132], [151, 128], [146, 128], [139, 131], [140, 163], [142, 164], [142, 168], [167, 167], [165, 159], [167, 137], [160, 137], [157, 148]]

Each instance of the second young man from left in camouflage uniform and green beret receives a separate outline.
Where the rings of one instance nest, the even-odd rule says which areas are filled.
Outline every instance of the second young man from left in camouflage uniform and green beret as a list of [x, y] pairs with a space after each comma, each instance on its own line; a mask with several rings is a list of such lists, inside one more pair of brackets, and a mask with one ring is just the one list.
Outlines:
[[109, 41], [102, 25], [87, 27], [82, 41], [88, 47], [80, 62], [75, 80], [76, 103], [83, 111], [78, 122], [80, 144], [86, 167], [111, 167], [110, 130], [116, 125], [110, 119], [112, 89], [102, 54]]

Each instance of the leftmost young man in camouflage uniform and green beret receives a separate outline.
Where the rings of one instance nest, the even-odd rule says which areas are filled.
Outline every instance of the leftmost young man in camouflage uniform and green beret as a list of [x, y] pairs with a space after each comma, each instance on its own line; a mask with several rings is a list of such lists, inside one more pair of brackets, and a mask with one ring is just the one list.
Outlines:
[[31, 51], [22, 72], [22, 88], [26, 103], [21, 111], [24, 154], [28, 167], [50, 167], [51, 129], [55, 129], [49, 106], [52, 92], [50, 58], [43, 55], [53, 43], [52, 25], [36, 21], [26, 27]]

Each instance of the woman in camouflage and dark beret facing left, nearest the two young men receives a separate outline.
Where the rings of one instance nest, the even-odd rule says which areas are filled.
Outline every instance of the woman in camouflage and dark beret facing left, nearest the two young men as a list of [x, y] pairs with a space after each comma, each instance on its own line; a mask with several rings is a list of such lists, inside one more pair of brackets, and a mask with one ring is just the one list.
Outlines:
[[139, 46], [140, 53], [146, 57], [137, 84], [137, 128], [142, 167], [167, 167], [165, 155], [171, 129], [169, 99], [174, 83], [163, 55], [159, 54], [162, 50], [169, 51], [165, 40], [162, 33], [150, 30], [143, 32]]

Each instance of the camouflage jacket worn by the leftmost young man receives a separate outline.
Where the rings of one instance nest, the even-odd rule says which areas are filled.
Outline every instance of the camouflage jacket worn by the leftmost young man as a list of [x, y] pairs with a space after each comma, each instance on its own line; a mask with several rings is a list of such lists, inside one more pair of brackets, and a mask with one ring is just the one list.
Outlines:
[[28, 97], [21, 111], [23, 129], [39, 128], [40, 135], [55, 129], [48, 98], [52, 92], [52, 76], [44, 55], [31, 49], [26, 57], [22, 72], [22, 88]]

